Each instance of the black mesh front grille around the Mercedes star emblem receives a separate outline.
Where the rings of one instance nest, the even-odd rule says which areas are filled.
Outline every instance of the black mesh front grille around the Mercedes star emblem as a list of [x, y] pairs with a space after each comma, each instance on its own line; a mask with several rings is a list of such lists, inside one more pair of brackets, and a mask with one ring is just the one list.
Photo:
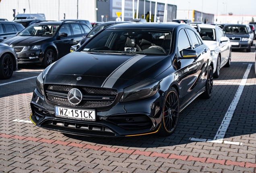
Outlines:
[[[60, 105], [71, 107], [107, 107], [111, 105], [118, 94], [115, 89], [69, 86], [69, 85], [45, 85], [46, 99]], [[77, 88], [83, 93], [83, 100], [78, 105], [68, 101], [68, 92]]]

